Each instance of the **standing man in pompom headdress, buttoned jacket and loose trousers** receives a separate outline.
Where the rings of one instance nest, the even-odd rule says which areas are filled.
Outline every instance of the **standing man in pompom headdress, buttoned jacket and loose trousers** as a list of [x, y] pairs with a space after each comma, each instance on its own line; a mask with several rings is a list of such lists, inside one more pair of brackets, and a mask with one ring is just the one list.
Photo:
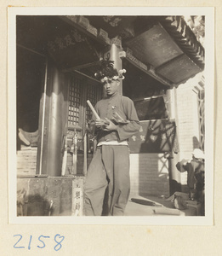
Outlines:
[[[86, 216], [101, 216], [105, 190], [108, 189], [108, 214], [124, 215], [128, 202], [129, 148], [128, 138], [139, 131], [139, 119], [134, 102], [118, 92], [122, 73], [113, 67], [113, 61], [101, 61], [101, 69], [95, 74], [103, 83], [105, 97], [96, 103], [95, 111], [100, 119], [90, 123], [95, 129], [97, 146], [88, 167], [84, 184], [84, 212]], [[94, 126], [94, 129], [92, 129]], [[108, 186], [108, 187], [107, 187]]]

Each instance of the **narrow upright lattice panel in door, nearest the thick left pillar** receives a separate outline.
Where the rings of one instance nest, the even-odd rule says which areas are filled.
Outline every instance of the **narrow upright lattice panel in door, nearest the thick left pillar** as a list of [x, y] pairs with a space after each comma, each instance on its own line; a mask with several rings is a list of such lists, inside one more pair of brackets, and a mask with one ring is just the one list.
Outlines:
[[79, 125], [80, 103], [81, 103], [81, 83], [77, 78], [72, 77], [69, 90], [69, 115], [68, 125]]

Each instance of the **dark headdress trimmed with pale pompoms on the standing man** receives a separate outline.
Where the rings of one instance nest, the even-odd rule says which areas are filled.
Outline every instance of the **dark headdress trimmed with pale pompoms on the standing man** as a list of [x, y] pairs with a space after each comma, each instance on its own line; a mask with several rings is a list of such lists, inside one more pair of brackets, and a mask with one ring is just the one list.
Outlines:
[[100, 61], [100, 70], [94, 74], [95, 78], [100, 79], [101, 82], [105, 82], [106, 80], [118, 80], [124, 79], [122, 73], [126, 73], [126, 69], [121, 69], [117, 71], [114, 66], [114, 61]]

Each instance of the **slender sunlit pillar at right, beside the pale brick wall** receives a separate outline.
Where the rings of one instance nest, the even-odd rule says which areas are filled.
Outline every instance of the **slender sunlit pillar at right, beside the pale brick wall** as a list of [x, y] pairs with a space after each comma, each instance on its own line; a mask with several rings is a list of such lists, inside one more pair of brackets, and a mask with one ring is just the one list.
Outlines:
[[[176, 88], [167, 90], [167, 108], [168, 118], [174, 119], [177, 124], [177, 108], [176, 108]], [[178, 131], [177, 131], [178, 133]], [[176, 191], [181, 191], [180, 172], [176, 168], [178, 155], [171, 152], [168, 154], [168, 172], [169, 172], [169, 191], [173, 195]]]

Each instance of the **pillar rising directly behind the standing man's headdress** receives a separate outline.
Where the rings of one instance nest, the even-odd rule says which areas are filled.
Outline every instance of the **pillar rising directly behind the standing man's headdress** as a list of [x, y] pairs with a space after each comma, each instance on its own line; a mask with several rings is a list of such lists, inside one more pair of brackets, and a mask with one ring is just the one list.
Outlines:
[[[114, 67], [117, 68], [117, 71], [122, 69], [122, 60], [119, 56], [119, 53], [122, 51], [122, 47], [117, 44], [111, 44], [107, 49], [105, 49], [104, 59], [114, 61]], [[118, 88], [119, 93], [122, 95], [122, 80], [120, 80], [120, 86]]]

